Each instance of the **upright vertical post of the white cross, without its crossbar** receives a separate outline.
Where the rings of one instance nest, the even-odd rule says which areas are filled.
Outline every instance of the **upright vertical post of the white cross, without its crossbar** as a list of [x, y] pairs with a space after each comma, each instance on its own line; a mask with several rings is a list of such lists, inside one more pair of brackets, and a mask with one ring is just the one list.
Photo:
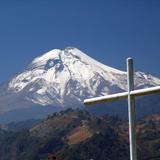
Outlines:
[[130, 94], [130, 92], [134, 90], [134, 70], [133, 70], [132, 58], [127, 59], [127, 84], [128, 84], [130, 160], [137, 160], [135, 98], [133, 95]]

